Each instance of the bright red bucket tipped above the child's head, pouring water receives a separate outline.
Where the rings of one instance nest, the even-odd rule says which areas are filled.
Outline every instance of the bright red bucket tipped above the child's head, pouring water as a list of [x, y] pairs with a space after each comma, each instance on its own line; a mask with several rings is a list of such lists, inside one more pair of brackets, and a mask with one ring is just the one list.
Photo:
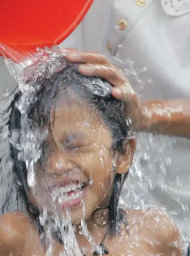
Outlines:
[[[26, 52], [35, 52], [37, 47], [51, 47], [53, 45], [60, 44], [82, 21], [93, 1], [94, 0], [32, 0], [33, 5], [31, 5], [25, 0], [1, 0], [0, 24], [6, 24], [2, 29], [0, 29], [1, 53], [15, 61], [19, 55], [25, 56]], [[15, 5], [15, 2], [17, 5]], [[29, 2], [31, 3], [31, 1]], [[44, 2], [46, 5], [44, 5]], [[51, 4], [52, 2], [54, 3], [53, 5]], [[38, 9], [34, 9], [35, 3], [41, 4], [38, 6]], [[57, 5], [55, 5], [55, 3]], [[19, 8], [19, 4], [22, 4], [22, 8]], [[10, 6], [14, 7], [13, 10], [15, 10], [15, 12], [10, 9]], [[44, 26], [44, 22], [42, 22], [42, 20], [39, 22], [39, 19], [29, 19], [30, 15], [34, 16], [33, 13], [29, 13], [30, 15], [25, 15], [25, 13], [23, 13], [24, 10], [30, 11], [30, 9], [31, 11], [33, 10], [36, 17], [43, 13], [42, 18], [47, 25]], [[42, 12], [44, 9], [45, 12]], [[65, 12], [65, 15], [63, 15], [64, 10], [67, 11]], [[53, 11], [55, 11], [55, 13], [53, 14], [52, 22], [50, 22], [48, 15]], [[18, 15], [19, 13], [21, 14]], [[18, 25], [22, 21], [22, 16], [25, 16], [26, 18], [26, 24], [23, 24], [23, 30], [21, 30], [22, 27]], [[35, 26], [37, 21], [39, 24], [38, 30]], [[14, 27], [12, 27], [13, 24]], [[49, 30], [48, 24], [50, 24]], [[24, 30], [24, 26], [25, 28], [28, 27], [30, 31]], [[0, 25], [0, 27], [2, 26]], [[11, 53], [9, 52], [9, 49], [12, 50]], [[15, 56], [13, 56], [14, 52]]]

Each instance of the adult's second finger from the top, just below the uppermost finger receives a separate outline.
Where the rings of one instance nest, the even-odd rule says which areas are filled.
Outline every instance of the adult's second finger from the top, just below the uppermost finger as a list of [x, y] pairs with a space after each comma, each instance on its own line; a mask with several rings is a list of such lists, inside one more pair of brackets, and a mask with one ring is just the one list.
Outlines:
[[84, 75], [104, 78], [113, 86], [119, 86], [126, 80], [122, 70], [111, 64], [80, 64], [78, 69]]

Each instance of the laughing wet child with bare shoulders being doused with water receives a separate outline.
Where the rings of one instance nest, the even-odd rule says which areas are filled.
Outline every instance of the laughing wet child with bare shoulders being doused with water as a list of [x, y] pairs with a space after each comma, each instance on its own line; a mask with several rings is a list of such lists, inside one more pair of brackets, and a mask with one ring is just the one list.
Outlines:
[[[101, 253], [93, 250], [81, 233], [81, 219], [103, 254], [182, 255], [179, 231], [165, 214], [118, 208], [136, 142], [123, 103], [111, 94], [111, 84], [80, 74], [77, 65], [60, 53], [50, 54], [39, 63], [27, 80], [38, 85], [36, 100], [27, 108], [28, 124], [35, 130], [48, 131], [35, 164], [38, 189], [43, 191], [45, 180], [50, 200], [61, 208], [62, 217], [69, 211], [83, 254]], [[61, 64], [52, 71], [55, 63]], [[19, 91], [12, 101], [10, 132], [22, 128], [15, 106], [20, 98]], [[10, 146], [27, 212], [0, 217], [0, 255], [45, 255], [47, 248], [40, 240], [42, 206], [36, 191], [28, 186], [25, 162], [18, 160], [18, 150]], [[63, 240], [56, 232], [53, 239], [53, 255], [59, 255]]]

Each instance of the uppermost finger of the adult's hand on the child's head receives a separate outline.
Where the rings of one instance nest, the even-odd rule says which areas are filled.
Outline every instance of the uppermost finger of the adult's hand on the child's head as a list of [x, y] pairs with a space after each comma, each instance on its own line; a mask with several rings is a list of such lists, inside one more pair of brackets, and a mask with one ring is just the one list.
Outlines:
[[108, 64], [109, 61], [98, 52], [82, 51], [73, 48], [60, 49], [62, 53], [65, 53], [66, 59], [71, 62], [78, 63], [100, 63]]

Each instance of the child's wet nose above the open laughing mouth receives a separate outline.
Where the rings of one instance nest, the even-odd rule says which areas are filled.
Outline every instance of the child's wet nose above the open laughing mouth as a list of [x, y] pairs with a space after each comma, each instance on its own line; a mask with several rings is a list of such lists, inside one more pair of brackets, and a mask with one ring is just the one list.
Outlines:
[[74, 163], [72, 163], [69, 159], [67, 153], [52, 153], [49, 157], [49, 168], [48, 172], [53, 174], [61, 174], [65, 170], [73, 169]]

